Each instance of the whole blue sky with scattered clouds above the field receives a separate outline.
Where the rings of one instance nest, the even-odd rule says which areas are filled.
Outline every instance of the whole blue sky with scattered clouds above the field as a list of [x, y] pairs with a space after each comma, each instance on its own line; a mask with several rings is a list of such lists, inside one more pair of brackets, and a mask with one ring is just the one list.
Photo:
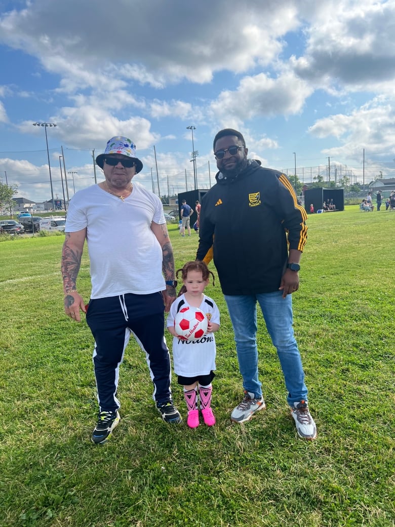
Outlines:
[[[55, 197], [59, 156], [75, 190], [126, 135], [161, 193], [216, 172], [212, 140], [239, 129], [249, 155], [311, 181], [395, 177], [395, 1], [0, 0], [0, 181], [18, 197]], [[62, 161], [63, 166], [63, 161]], [[152, 169], [152, 171], [151, 171]], [[209, 172], [210, 171], [210, 172]], [[97, 167], [97, 181], [102, 172]], [[70, 179], [70, 178], [69, 178]], [[68, 185], [70, 196], [72, 185]]]

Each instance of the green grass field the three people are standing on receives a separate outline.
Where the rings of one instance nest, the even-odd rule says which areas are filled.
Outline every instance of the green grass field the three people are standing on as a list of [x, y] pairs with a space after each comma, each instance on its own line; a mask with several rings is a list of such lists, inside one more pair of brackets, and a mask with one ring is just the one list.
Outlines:
[[[206, 291], [222, 315], [217, 424], [193, 431], [185, 419], [177, 427], [160, 421], [133, 341], [121, 366], [121, 423], [110, 442], [93, 445], [93, 341], [85, 321], [63, 312], [63, 236], [0, 243], [0, 525], [395, 525], [395, 213], [347, 207], [309, 216], [308, 225], [293, 303], [319, 434], [312, 443], [297, 437], [261, 318], [268, 408], [245, 425], [230, 423], [242, 384], [216, 283]], [[197, 236], [169, 230], [179, 268], [194, 259]], [[87, 301], [86, 251], [78, 290]], [[175, 378], [173, 393], [184, 416]]]

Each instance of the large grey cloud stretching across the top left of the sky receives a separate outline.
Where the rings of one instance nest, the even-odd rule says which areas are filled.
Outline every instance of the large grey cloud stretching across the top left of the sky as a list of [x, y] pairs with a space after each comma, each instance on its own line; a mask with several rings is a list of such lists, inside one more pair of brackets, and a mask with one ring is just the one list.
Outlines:
[[111, 16], [107, 4], [93, 0], [37, 0], [3, 15], [0, 32], [4, 43], [82, 85], [119, 64], [125, 78], [161, 86], [210, 82], [215, 71], [269, 64], [282, 50], [281, 37], [297, 25], [295, 8], [284, 0], [217, 0], [209, 9], [176, 0], [171, 13], [159, 0], [114, 0]]

